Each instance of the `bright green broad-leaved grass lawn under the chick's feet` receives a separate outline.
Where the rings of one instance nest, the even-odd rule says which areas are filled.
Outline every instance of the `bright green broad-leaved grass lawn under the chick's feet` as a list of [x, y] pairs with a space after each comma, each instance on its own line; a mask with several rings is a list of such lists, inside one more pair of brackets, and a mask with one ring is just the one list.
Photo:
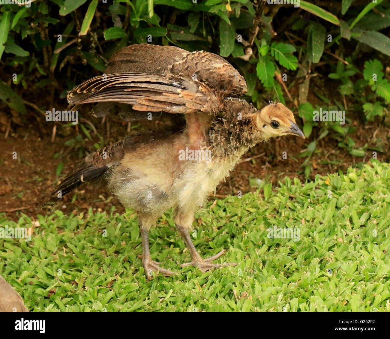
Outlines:
[[[151, 230], [151, 253], [177, 274], [148, 281], [132, 211], [56, 211], [39, 217], [32, 241], [0, 239], [0, 274], [33, 311], [390, 311], [390, 165], [328, 178], [286, 178], [266, 197], [201, 209], [196, 247], [203, 256], [226, 248], [216, 262], [235, 267], [181, 269], [190, 256], [168, 214]], [[0, 217], [1, 227], [31, 224]], [[268, 238], [273, 225], [299, 227], [300, 240]]]

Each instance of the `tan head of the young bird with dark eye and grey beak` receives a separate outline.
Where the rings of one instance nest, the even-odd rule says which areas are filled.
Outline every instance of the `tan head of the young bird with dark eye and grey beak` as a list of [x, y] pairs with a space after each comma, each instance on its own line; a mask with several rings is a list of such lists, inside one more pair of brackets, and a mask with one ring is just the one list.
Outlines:
[[266, 139], [279, 135], [297, 135], [305, 139], [305, 135], [295, 122], [293, 112], [282, 103], [270, 103], [257, 114], [257, 128]]

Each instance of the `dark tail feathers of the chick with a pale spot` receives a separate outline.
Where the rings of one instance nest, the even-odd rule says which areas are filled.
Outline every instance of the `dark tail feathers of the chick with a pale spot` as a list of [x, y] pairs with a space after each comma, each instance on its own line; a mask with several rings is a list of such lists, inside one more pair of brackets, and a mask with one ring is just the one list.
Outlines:
[[56, 197], [56, 201], [53, 204], [54, 206], [60, 197], [73, 191], [81, 184], [101, 176], [107, 169], [108, 167], [96, 167], [94, 165], [84, 163], [81, 167], [69, 173], [65, 177], [60, 185], [51, 193], [50, 197], [46, 200], [43, 206], [46, 205], [50, 199]]

